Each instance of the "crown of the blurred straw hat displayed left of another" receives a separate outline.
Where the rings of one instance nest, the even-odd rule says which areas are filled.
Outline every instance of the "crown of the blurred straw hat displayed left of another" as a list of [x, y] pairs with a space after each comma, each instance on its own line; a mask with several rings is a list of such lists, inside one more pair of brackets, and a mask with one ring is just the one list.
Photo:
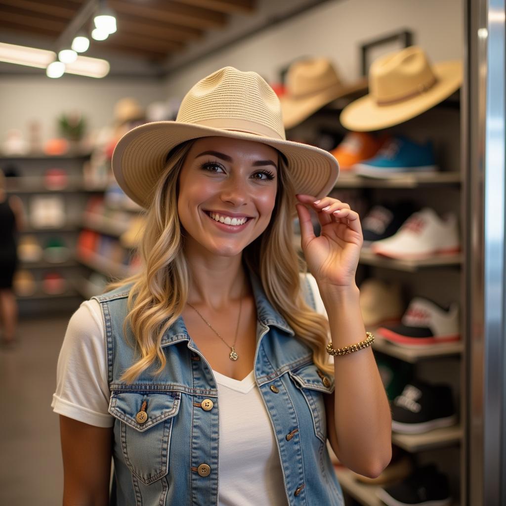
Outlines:
[[327, 58], [311, 58], [293, 62], [286, 74], [286, 93], [293, 98], [339, 86], [342, 86], [341, 78]]

